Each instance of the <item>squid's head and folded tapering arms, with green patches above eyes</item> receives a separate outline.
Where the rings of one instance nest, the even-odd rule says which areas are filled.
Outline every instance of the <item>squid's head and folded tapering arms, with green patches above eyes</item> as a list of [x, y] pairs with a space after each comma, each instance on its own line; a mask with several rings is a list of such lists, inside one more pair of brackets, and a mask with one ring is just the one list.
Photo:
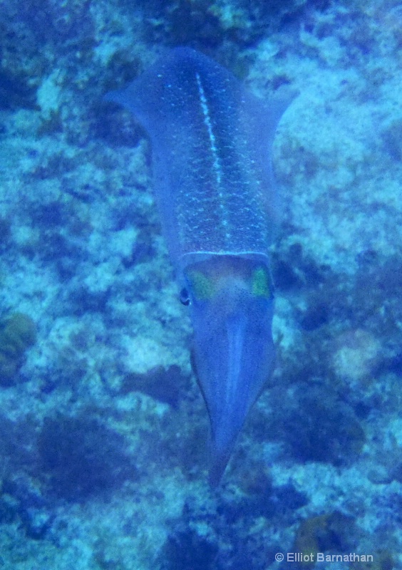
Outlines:
[[216, 484], [274, 366], [272, 281], [263, 261], [227, 255], [190, 264], [185, 281]]

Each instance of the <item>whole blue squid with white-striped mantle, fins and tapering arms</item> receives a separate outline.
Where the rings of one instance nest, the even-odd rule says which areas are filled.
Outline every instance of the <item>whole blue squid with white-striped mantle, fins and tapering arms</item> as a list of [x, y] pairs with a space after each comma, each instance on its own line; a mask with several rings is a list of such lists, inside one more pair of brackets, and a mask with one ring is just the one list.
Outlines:
[[150, 136], [163, 233], [190, 306], [216, 484], [274, 367], [271, 151], [289, 100], [263, 103], [190, 48], [173, 49], [106, 99], [132, 111]]

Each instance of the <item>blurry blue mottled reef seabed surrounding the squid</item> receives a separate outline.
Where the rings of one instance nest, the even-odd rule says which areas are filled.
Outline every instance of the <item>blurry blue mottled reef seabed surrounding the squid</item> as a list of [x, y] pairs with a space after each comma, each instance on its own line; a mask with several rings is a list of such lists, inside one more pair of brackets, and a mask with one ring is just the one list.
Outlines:
[[[2, 569], [402, 567], [401, 6], [249, 4], [1, 5]], [[299, 93], [277, 366], [216, 489], [150, 143], [103, 101], [177, 45]]]

